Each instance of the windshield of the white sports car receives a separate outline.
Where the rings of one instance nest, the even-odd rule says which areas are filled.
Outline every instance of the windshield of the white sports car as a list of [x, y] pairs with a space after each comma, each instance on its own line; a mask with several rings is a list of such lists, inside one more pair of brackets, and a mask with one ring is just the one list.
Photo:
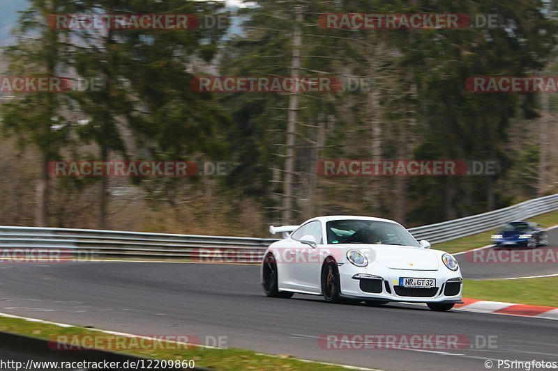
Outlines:
[[326, 223], [328, 244], [385, 244], [420, 247], [402, 226], [386, 221], [336, 220]]

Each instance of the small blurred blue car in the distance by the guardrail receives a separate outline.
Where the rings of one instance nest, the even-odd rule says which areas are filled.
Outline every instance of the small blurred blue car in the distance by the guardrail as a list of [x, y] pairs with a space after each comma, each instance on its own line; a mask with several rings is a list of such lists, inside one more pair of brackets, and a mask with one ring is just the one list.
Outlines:
[[548, 244], [548, 235], [537, 223], [512, 221], [507, 223], [497, 235], [492, 235], [496, 247], [522, 246], [535, 248]]

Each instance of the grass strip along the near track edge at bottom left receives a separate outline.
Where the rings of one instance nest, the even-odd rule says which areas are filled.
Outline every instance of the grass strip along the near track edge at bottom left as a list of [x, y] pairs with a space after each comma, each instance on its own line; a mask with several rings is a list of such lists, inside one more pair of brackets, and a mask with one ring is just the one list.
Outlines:
[[[29, 322], [24, 319], [4, 317], [0, 317], [0, 331], [19, 333], [43, 339], [54, 339], [56, 336], [73, 335], [102, 336], [104, 339], [106, 339], [107, 336], [110, 337], [110, 335], [106, 333], [78, 326], [66, 328], [56, 326], [54, 324]], [[114, 338], [112, 339], [112, 342], [114, 343]], [[214, 370], [347, 370], [347, 368], [342, 368], [341, 366], [336, 365], [324, 365], [322, 363], [300, 361], [289, 355], [267, 356], [242, 349], [208, 349], [203, 347], [188, 346], [188, 349], [180, 347], [181, 349], [176, 350], [176, 345], [167, 347], [167, 349], [161, 348], [164, 348], [164, 346], [153, 345], [153, 347], [147, 346], [144, 347], [144, 349], [126, 350], [126, 353], [167, 360], [177, 359], [181, 361], [188, 361], [193, 359], [196, 366], [212, 368]], [[118, 352], [116, 349], [107, 350]]]

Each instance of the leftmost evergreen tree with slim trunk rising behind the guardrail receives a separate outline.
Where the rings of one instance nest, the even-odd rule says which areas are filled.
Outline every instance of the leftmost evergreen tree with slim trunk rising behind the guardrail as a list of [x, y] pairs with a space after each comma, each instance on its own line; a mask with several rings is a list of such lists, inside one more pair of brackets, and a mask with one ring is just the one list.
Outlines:
[[[49, 16], [70, 12], [73, 4], [61, 0], [33, 0], [22, 12], [14, 30], [17, 43], [5, 56], [15, 76], [56, 77], [68, 68], [68, 32], [49, 25]], [[49, 224], [49, 162], [59, 156], [66, 143], [68, 125], [65, 111], [68, 97], [57, 93], [26, 93], [3, 104], [0, 112], [3, 129], [16, 134], [20, 145], [34, 145], [40, 152], [40, 179], [37, 186], [35, 225]], [[56, 126], [54, 126], [56, 125]]]

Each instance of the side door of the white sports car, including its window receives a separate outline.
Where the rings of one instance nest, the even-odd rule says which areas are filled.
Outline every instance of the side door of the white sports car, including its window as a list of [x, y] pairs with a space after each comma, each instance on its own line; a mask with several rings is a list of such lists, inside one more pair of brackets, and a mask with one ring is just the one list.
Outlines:
[[[302, 237], [311, 235], [317, 242], [316, 247], [300, 242]], [[300, 290], [319, 294], [319, 272], [322, 267], [320, 257], [324, 248], [324, 233], [320, 221], [310, 221], [306, 223], [304, 229], [299, 233], [294, 233], [292, 238], [296, 242], [294, 251], [295, 262], [292, 264], [292, 276]]]

